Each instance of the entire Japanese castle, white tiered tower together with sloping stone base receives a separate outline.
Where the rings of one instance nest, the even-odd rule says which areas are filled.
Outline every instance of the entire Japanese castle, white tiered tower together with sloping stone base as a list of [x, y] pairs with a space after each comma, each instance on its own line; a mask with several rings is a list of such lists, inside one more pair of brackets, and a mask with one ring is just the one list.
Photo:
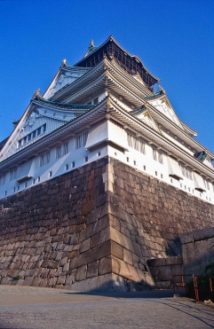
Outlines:
[[0, 143], [0, 284], [169, 288], [194, 262], [182, 241], [214, 226], [214, 154], [159, 82], [110, 35], [36, 90]]

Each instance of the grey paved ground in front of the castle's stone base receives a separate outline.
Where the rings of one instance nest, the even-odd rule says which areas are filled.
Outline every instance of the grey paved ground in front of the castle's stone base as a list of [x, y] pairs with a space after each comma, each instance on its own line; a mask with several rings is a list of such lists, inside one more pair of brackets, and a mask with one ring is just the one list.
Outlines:
[[167, 295], [75, 294], [62, 289], [0, 286], [0, 328], [214, 328], [214, 308]]

